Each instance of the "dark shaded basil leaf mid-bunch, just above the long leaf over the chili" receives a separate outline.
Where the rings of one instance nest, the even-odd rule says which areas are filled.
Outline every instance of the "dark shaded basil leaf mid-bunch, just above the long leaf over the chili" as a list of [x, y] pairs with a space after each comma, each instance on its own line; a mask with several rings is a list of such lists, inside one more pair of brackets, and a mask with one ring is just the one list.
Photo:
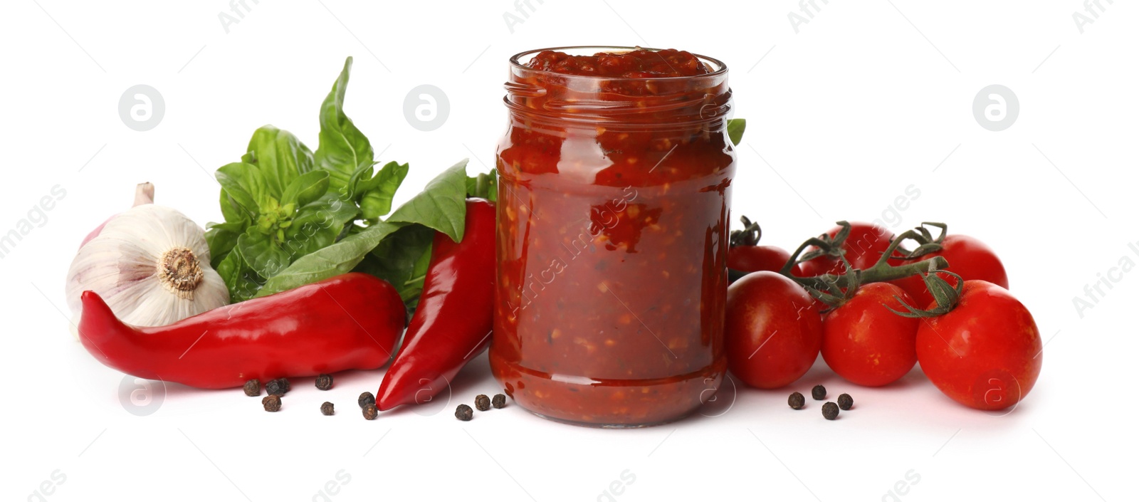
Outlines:
[[[310, 173], [311, 174], [311, 173]], [[357, 206], [326, 194], [297, 211], [285, 229], [281, 249], [289, 255], [289, 263], [336, 241], [344, 225], [357, 216]]]

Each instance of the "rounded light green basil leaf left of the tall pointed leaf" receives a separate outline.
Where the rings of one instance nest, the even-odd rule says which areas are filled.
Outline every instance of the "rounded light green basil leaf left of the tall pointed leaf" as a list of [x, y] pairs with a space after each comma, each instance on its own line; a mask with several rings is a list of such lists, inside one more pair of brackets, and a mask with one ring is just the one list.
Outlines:
[[288, 131], [263, 125], [253, 132], [241, 161], [256, 165], [269, 195], [281, 197], [298, 175], [312, 170], [312, 151]]

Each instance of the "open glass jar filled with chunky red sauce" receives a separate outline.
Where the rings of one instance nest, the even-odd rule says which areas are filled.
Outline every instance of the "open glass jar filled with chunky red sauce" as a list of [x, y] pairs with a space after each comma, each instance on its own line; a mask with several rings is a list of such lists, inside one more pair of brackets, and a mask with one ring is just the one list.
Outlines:
[[526, 410], [577, 425], [696, 411], [727, 367], [728, 68], [559, 48], [510, 58], [506, 88], [494, 377]]

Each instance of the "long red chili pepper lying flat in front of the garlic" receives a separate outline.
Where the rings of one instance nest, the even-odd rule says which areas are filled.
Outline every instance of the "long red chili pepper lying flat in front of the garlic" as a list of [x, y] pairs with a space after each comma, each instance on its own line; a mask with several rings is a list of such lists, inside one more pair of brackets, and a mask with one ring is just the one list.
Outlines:
[[93, 291], [82, 299], [80, 340], [91, 355], [124, 373], [200, 388], [379, 368], [407, 319], [395, 288], [363, 273], [153, 328], [124, 324]]

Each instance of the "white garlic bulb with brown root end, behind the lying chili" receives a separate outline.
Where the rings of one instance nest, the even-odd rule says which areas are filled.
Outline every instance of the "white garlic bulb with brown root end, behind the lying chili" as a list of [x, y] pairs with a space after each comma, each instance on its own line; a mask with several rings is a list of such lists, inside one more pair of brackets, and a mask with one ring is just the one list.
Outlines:
[[134, 326], [170, 324], [229, 303], [226, 282], [210, 268], [202, 227], [154, 204], [113, 217], [75, 255], [66, 290], [75, 324], [85, 290]]

